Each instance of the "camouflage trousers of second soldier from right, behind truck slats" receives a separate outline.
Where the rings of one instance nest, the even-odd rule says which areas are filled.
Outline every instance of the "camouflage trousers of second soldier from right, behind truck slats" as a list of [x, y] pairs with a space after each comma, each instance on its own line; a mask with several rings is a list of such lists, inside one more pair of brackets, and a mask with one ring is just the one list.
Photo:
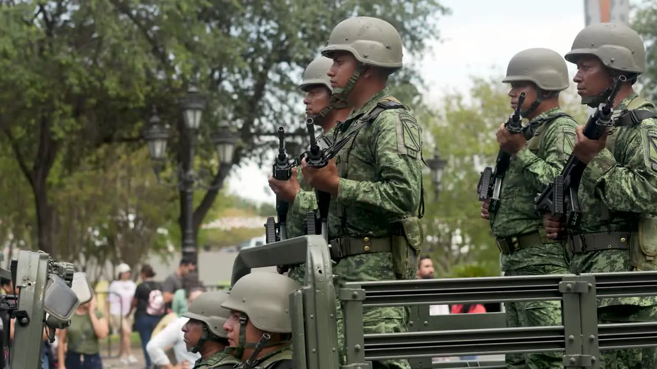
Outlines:
[[[568, 274], [564, 267], [556, 265], [528, 265], [505, 272], [506, 276], [526, 276], [540, 274]], [[505, 303], [507, 326], [535, 327], [560, 326], [561, 301], [528, 301]], [[562, 353], [507, 354], [507, 369], [561, 369], [564, 367]]]

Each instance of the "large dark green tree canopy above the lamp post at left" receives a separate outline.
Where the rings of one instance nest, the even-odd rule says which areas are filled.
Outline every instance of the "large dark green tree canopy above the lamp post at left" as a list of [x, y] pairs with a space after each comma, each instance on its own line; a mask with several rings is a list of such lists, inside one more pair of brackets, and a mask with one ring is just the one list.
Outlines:
[[[399, 30], [405, 53], [420, 54], [445, 13], [437, 0], [1, 1], [0, 131], [34, 195], [38, 248], [57, 251], [62, 205], [52, 191], [69, 186], [66, 178], [83, 164], [101, 167], [87, 158], [103, 145], [133, 142], [123, 150], [139, 150], [153, 106], [173, 128], [171, 160], [187, 162], [191, 136], [179, 98], [189, 83], [208, 97], [200, 165], [212, 163], [209, 133], [222, 121], [240, 137], [233, 160], [240, 165], [265, 154], [281, 123], [299, 127], [292, 117], [300, 72], [338, 22], [384, 18]], [[407, 68], [394, 79], [407, 100], [417, 98], [415, 76]], [[208, 182], [215, 189], [193, 214], [196, 231], [231, 165], [214, 168]]]

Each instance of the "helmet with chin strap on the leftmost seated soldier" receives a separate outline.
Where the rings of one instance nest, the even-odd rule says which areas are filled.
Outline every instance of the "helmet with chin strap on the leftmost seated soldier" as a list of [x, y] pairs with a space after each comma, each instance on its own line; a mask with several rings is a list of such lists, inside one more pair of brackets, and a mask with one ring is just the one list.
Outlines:
[[223, 291], [204, 292], [189, 304], [187, 311], [182, 316], [200, 320], [204, 324], [203, 335], [194, 347], [188, 348], [188, 351], [198, 353], [208, 339], [216, 341], [227, 337], [226, 331], [223, 330], [223, 324], [231, 317], [231, 311], [221, 307], [227, 298], [228, 293]]

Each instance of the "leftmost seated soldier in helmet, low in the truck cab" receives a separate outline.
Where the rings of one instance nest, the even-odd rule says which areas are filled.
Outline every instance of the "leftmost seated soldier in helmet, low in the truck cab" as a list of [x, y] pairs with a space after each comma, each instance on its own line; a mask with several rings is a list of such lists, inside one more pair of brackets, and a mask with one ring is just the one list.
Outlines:
[[228, 293], [222, 291], [204, 292], [189, 304], [182, 316], [189, 318], [182, 331], [185, 332], [187, 351], [200, 353], [192, 369], [222, 368], [231, 369], [239, 360], [224, 353], [228, 339], [223, 324], [231, 313], [220, 305], [226, 301]]

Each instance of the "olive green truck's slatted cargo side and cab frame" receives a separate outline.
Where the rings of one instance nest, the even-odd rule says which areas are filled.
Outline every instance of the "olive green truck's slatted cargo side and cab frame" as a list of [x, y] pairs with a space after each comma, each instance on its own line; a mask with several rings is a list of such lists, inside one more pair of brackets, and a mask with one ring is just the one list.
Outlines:
[[[564, 368], [598, 369], [601, 350], [657, 346], [657, 322], [598, 324], [598, 297], [657, 295], [657, 272], [349, 282], [334, 286], [329, 246], [302, 236], [240, 251], [231, 284], [252, 268], [306, 262], [290, 295], [295, 369], [371, 369], [409, 358], [411, 368], [503, 369], [499, 362], [432, 357], [558, 351]], [[346, 364], [338, 360], [335, 299], [344, 307]], [[504, 313], [430, 316], [428, 305], [560, 300], [562, 325], [505, 328]], [[409, 306], [409, 332], [363, 334], [363, 307]]]

